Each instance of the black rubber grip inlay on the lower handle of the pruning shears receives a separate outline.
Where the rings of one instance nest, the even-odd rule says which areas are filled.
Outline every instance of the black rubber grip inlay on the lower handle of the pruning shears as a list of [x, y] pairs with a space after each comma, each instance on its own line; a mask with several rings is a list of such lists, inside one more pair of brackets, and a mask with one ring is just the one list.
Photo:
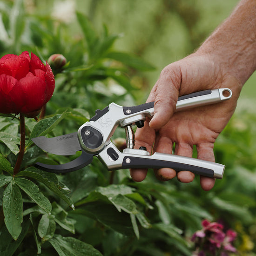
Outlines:
[[[130, 159], [127, 161], [127, 159]], [[128, 163], [127, 163], [128, 162]], [[198, 167], [186, 163], [178, 163], [178, 162], [169, 162], [164, 160], [156, 160], [156, 159], [146, 159], [141, 157], [124, 157], [122, 162], [122, 169], [128, 168], [152, 168], [152, 169], [160, 169], [160, 168], [172, 168], [175, 171], [190, 171], [197, 175], [203, 175], [210, 178], [213, 178], [214, 171], [212, 169]]]

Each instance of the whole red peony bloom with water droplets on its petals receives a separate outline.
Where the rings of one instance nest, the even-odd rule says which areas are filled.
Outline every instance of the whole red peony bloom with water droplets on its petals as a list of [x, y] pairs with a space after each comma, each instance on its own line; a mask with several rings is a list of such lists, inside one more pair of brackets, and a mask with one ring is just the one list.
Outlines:
[[[0, 59], [0, 113], [30, 115], [50, 100], [55, 87], [54, 74], [39, 57], [23, 52]], [[35, 116], [35, 115], [34, 115]]]

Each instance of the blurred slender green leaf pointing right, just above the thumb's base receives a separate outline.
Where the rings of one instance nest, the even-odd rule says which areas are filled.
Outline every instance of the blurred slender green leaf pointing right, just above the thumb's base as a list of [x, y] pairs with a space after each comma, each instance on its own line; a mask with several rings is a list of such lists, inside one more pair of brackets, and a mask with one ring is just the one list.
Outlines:
[[129, 53], [122, 53], [122, 52], [110, 52], [106, 54], [106, 57], [109, 59], [113, 59], [115, 61], [120, 61], [121, 63], [133, 67], [135, 69], [141, 70], [141, 71], [149, 71], [154, 70], [155, 67], [153, 67], [151, 64], [149, 64], [146, 61], [141, 60], [141, 58], [134, 56]]

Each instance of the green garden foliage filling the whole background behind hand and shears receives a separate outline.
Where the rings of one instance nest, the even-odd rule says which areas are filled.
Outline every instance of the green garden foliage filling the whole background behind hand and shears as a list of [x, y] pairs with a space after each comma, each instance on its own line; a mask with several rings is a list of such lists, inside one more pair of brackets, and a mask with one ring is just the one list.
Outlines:
[[109, 173], [97, 159], [66, 175], [46, 173], [34, 163], [77, 155], [46, 155], [31, 141], [74, 132], [110, 102], [143, 103], [160, 70], [193, 52], [236, 2], [0, 2], [1, 56], [28, 50], [42, 61], [51, 54], [67, 58], [45, 119], [26, 120], [26, 152], [15, 177], [19, 120], [0, 117], [1, 256], [190, 256], [190, 237], [204, 218], [238, 232], [240, 255], [256, 255], [254, 101], [240, 101], [216, 142], [216, 162], [227, 167], [210, 192], [198, 177], [159, 182], [152, 171], [135, 183], [128, 170]]

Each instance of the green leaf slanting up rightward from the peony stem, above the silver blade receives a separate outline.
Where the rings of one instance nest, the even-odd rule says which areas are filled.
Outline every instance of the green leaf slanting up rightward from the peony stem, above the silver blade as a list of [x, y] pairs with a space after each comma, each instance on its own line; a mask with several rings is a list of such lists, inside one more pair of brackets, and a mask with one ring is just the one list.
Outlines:
[[31, 140], [32, 138], [47, 135], [56, 127], [56, 125], [59, 124], [62, 119], [66, 118], [68, 115], [70, 115], [69, 112], [64, 112], [61, 115], [54, 115], [53, 117], [45, 118], [37, 122], [30, 134], [26, 147], [33, 144], [33, 141]]

